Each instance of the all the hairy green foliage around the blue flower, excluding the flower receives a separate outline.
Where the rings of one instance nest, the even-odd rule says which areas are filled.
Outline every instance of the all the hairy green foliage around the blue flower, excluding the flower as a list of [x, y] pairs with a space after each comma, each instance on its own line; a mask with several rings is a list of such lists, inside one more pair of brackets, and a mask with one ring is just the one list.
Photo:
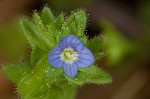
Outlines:
[[3, 70], [17, 84], [17, 91], [22, 99], [72, 99], [76, 86], [111, 82], [110, 75], [94, 65], [79, 68], [77, 76], [70, 78], [62, 68], [53, 68], [48, 64], [49, 51], [68, 34], [74, 34], [81, 39], [96, 59], [102, 57], [102, 39], [95, 37], [87, 40], [84, 35], [86, 20], [84, 10], [72, 12], [65, 18], [63, 13], [54, 16], [47, 7], [40, 14], [34, 12], [32, 21], [27, 18], [20, 20], [23, 33], [32, 48], [30, 62], [27, 66], [6, 65]]

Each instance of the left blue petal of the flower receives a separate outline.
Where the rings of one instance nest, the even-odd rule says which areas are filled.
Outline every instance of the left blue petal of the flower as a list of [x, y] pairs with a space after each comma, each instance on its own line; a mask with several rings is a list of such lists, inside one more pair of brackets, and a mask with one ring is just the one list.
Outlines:
[[62, 61], [60, 60], [60, 54], [61, 54], [61, 50], [59, 47], [53, 48], [48, 55], [48, 63], [55, 68], [61, 68]]

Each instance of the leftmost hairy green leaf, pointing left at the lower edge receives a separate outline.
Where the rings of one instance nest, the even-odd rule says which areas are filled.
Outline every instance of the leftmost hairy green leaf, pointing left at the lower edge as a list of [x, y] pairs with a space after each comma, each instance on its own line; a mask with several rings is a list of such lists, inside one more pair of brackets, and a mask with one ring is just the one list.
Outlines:
[[3, 72], [15, 84], [18, 84], [29, 73], [29, 67], [23, 64], [8, 64], [3, 67]]

